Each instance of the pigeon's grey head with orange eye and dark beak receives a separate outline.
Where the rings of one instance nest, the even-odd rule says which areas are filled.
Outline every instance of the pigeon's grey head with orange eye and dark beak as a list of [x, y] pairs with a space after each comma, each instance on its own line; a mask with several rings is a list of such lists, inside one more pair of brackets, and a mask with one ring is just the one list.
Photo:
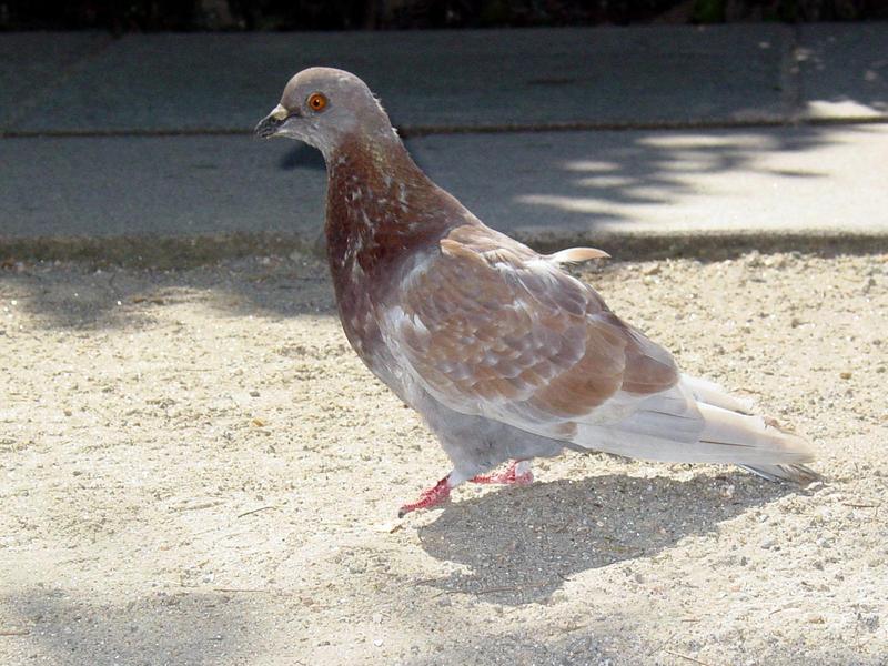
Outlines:
[[290, 79], [278, 104], [256, 125], [258, 137], [289, 137], [329, 155], [349, 137], [393, 137], [383, 108], [349, 72], [313, 67]]

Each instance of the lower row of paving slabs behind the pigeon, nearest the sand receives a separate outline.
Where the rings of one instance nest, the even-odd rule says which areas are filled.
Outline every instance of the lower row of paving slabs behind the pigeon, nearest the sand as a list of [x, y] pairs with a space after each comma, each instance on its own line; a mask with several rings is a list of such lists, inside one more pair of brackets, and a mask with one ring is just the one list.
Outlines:
[[[491, 225], [533, 238], [888, 230], [888, 125], [457, 134], [408, 148]], [[312, 235], [319, 154], [246, 137], [0, 141], [0, 219], [27, 235]]]

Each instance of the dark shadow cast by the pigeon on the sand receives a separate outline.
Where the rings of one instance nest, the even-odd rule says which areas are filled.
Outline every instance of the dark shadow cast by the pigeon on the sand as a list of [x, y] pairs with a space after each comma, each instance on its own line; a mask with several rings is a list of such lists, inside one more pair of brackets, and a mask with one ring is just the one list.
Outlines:
[[650, 557], [793, 492], [733, 472], [687, 481], [605, 474], [486, 493], [420, 527], [428, 555], [471, 569], [426, 584], [506, 605], [545, 602], [575, 574]]

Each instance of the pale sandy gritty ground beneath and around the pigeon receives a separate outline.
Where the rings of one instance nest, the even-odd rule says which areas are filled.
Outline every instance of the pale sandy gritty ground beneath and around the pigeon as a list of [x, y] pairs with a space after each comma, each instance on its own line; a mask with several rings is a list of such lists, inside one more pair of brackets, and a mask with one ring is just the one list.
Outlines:
[[888, 256], [585, 278], [827, 483], [571, 453], [397, 521], [447, 462], [322, 265], [4, 266], [0, 664], [888, 664]]

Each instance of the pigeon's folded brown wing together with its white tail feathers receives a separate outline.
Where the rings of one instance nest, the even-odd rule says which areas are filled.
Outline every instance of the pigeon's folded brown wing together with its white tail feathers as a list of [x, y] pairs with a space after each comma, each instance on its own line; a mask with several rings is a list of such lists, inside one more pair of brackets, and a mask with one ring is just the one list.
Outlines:
[[443, 239], [384, 320], [404, 372], [457, 412], [632, 457], [809, 472], [801, 437], [682, 375], [589, 286], [496, 232]]

